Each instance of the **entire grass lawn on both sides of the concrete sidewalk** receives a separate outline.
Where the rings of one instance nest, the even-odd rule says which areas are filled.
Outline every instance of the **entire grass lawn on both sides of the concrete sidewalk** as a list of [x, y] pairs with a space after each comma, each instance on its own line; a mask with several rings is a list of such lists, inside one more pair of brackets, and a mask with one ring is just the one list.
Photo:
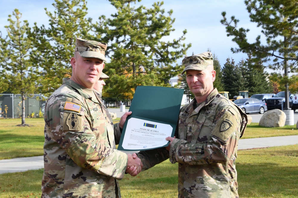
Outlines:
[[[0, 159], [43, 155], [44, 120], [27, 118], [30, 127], [18, 124], [21, 119], [0, 119]], [[265, 128], [252, 123], [243, 138], [289, 135], [298, 135], [295, 125]], [[298, 198], [298, 145], [239, 150], [236, 163], [240, 197]], [[0, 197], [41, 197], [42, 173], [1, 174]], [[125, 175], [120, 189], [123, 198], [172, 198], [177, 197], [177, 182], [178, 164], [166, 160], [136, 177]]]

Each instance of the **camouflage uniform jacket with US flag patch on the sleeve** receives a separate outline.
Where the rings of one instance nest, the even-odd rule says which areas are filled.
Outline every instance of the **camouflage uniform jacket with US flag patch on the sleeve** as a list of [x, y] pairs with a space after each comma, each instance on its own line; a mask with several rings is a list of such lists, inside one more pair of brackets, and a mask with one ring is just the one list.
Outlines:
[[63, 79], [47, 100], [41, 197], [121, 197], [117, 180], [128, 159], [115, 149], [114, 126], [98, 96]]

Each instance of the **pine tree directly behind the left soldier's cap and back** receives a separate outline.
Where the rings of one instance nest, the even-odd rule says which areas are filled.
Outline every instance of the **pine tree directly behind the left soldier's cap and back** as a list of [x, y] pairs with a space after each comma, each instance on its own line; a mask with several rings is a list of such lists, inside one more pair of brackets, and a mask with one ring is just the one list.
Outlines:
[[[39, 91], [50, 95], [60, 87], [62, 79], [70, 77], [70, 59], [74, 54], [76, 37], [90, 39], [92, 19], [86, 18], [85, 0], [55, 0], [54, 13], [47, 11], [49, 28], [35, 23], [32, 41], [38, 51], [32, 54], [35, 64], [42, 68], [43, 81]], [[93, 37], [92, 37], [93, 38]]]

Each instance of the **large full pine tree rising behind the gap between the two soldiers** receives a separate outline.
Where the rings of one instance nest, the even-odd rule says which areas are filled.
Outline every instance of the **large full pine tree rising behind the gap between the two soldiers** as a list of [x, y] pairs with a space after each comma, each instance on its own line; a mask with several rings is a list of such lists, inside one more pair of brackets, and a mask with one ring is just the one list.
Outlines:
[[185, 56], [191, 46], [182, 43], [186, 30], [177, 40], [164, 41], [175, 30], [173, 11], [166, 16], [161, 8], [163, 2], [146, 8], [131, 6], [136, 0], [109, 1], [117, 13], [112, 18], [101, 16], [97, 27], [97, 32], [105, 35], [103, 40], [109, 43], [106, 54], [111, 61], [104, 69], [110, 76], [106, 91], [114, 97], [114, 93], [133, 95], [137, 86], [170, 86], [170, 78], [183, 69], [177, 59]]

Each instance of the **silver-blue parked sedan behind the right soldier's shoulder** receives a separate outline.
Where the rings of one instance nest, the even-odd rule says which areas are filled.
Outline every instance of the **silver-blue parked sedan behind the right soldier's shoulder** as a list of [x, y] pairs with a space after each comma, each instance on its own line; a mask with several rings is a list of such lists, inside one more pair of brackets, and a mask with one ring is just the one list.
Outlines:
[[266, 103], [258, 100], [257, 98], [237, 99], [234, 101], [234, 103], [239, 106], [246, 114], [257, 112], [259, 114], [263, 114], [265, 111], [267, 111]]

